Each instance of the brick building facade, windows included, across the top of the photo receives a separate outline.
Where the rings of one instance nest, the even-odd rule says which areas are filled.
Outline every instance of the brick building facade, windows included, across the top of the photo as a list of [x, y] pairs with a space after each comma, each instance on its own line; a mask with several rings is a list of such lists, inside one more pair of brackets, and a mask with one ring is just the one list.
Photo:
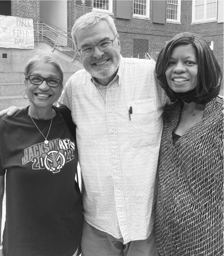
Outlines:
[[[4, 2], [4, 1], [3, 1]], [[5, 1], [10, 2], [10, 1]], [[53, 1], [52, 1], [53, 2]], [[85, 6], [85, 2], [89, 7]], [[214, 4], [213, 10], [215, 10], [215, 19], [210, 19], [203, 22], [192, 22], [192, 0], [179, 0], [179, 1], [137, 1], [137, 0], [109, 0], [109, 1], [67, 1], [68, 10], [68, 34], [71, 34], [71, 29], [75, 21], [87, 12], [91, 12], [93, 7], [97, 7], [97, 2], [110, 3], [110, 12], [106, 12], [112, 16], [115, 25], [117, 27], [117, 32], [120, 36], [121, 41], [121, 54], [123, 57], [131, 57], [136, 53], [148, 52], [151, 57], [154, 53], [160, 52], [162, 47], [165, 45], [166, 41], [169, 41], [174, 35], [180, 32], [192, 32], [200, 34], [207, 41], [212, 41], [213, 53], [217, 58], [222, 71], [223, 71], [223, 21], [218, 21], [218, 11], [221, 0], [205, 1], [211, 2], [209, 4]], [[118, 12], [122, 8], [122, 2], [127, 6], [130, 4], [130, 8], [124, 9], [124, 17]], [[148, 8], [148, 14], [146, 16], [136, 15], [134, 11], [136, 10], [137, 2], [145, 2]], [[196, 1], [203, 2], [203, 1]], [[84, 5], [82, 5], [84, 3]], [[168, 19], [167, 12], [168, 4], [174, 5], [178, 3], [178, 10], [180, 16], [179, 20], [172, 21]], [[79, 5], [78, 5], [79, 4]], [[163, 7], [156, 7], [156, 5], [162, 4]], [[95, 5], [95, 6], [94, 6]], [[98, 4], [98, 8], [101, 8]], [[206, 6], [205, 6], [206, 7]], [[204, 7], [204, 8], [205, 8]], [[156, 11], [156, 8], [158, 9]], [[161, 9], [162, 8], [162, 9]], [[96, 10], [96, 9], [94, 9]], [[98, 11], [103, 11], [102, 9], [97, 9]], [[121, 12], [121, 11], [120, 11]], [[214, 12], [214, 11], [213, 11]], [[22, 18], [32, 18], [34, 23], [37, 19], [40, 19], [40, 1], [39, 0], [13, 0], [11, 1], [11, 15], [19, 16]], [[222, 10], [223, 17], [223, 10]], [[159, 18], [157, 18], [157, 16]], [[220, 16], [220, 14], [219, 14]], [[128, 17], [128, 18], [127, 18]], [[160, 21], [162, 20], [162, 21]], [[35, 25], [34, 25], [35, 27]], [[35, 29], [35, 28], [34, 28]], [[145, 45], [143, 48], [141, 44]], [[135, 56], [134, 56], [135, 57]], [[223, 81], [222, 81], [223, 90]]]

